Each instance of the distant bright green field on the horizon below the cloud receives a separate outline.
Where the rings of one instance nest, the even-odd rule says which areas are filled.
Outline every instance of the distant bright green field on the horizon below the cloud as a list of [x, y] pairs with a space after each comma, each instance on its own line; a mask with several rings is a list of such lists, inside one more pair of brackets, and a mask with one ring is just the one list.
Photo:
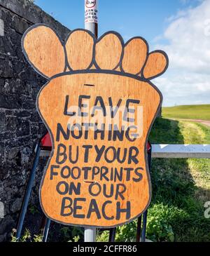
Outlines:
[[210, 105], [162, 107], [162, 116], [176, 119], [210, 120]]

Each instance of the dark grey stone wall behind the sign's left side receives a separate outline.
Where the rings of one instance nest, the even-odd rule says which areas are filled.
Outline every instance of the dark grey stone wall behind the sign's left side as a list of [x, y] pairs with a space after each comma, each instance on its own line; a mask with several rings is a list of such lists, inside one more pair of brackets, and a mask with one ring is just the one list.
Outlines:
[[[35, 102], [46, 80], [25, 60], [21, 49], [22, 34], [35, 23], [50, 25], [62, 39], [69, 29], [27, 0], [0, 0], [0, 19], [0, 202], [4, 206], [0, 241], [6, 241], [17, 224], [34, 147], [45, 133]], [[42, 170], [43, 165], [37, 171], [30, 203], [38, 202]]]

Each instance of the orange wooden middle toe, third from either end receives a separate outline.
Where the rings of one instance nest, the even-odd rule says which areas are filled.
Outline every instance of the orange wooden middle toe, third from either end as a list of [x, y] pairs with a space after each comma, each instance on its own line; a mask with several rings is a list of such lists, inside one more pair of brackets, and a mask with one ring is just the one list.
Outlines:
[[120, 64], [123, 46], [116, 34], [106, 34], [97, 42], [95, 60], [100, 69], [114, 69]]

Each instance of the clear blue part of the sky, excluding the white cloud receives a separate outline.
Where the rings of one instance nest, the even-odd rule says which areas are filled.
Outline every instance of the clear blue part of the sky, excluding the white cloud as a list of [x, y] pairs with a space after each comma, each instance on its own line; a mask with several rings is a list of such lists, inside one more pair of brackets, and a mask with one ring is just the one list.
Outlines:
[[[35, 0], [35, 4], [69, 29], [84, 27], [84, 0]], [[99, 0], [99, 35], [116, 30], [125, 41], [141, 35], [153, 43], [169, 17], [197, 4], [194, 0]]]

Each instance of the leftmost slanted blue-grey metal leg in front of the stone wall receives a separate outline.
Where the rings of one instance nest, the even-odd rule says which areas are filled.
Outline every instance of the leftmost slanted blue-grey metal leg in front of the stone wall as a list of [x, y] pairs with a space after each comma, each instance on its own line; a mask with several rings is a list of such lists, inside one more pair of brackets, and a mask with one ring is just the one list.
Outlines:
[[29, 182], [27, 184], [27, 189], [25, 191], [25, 196], [24, 196], [24, 200], [23, 200], [23, 203], [22, 203], [22, 209], [21, 209], [20, 217], [19, 217], [19, 220], [18, 220], [18, 227], [17, 227], [17, 234], [16, 234], [17, 239], [20, 238], [21, 231], [22, 231], [22, 225], [23, 225], [23, 222], [25, 220], [25, 215], [27, 213], [27, 206], [29, 204], [31, 189], [32, 189], [33, 184], [34, 184], [34, 179], [35, 179], [35, 175], [36, 175], [36, 167], [38, 166], [38, 158], [39, 158], [39, 155], [40, 155], [40, 151], [41, 151], [40, 142], [38, 142], [38, 144], [36, 145], [36, 156], [35, 156], [35, 159], [34, 159], [33, 168], [31, 170], [31, 173], [30, 173], [30, 176], [29, 176]]

